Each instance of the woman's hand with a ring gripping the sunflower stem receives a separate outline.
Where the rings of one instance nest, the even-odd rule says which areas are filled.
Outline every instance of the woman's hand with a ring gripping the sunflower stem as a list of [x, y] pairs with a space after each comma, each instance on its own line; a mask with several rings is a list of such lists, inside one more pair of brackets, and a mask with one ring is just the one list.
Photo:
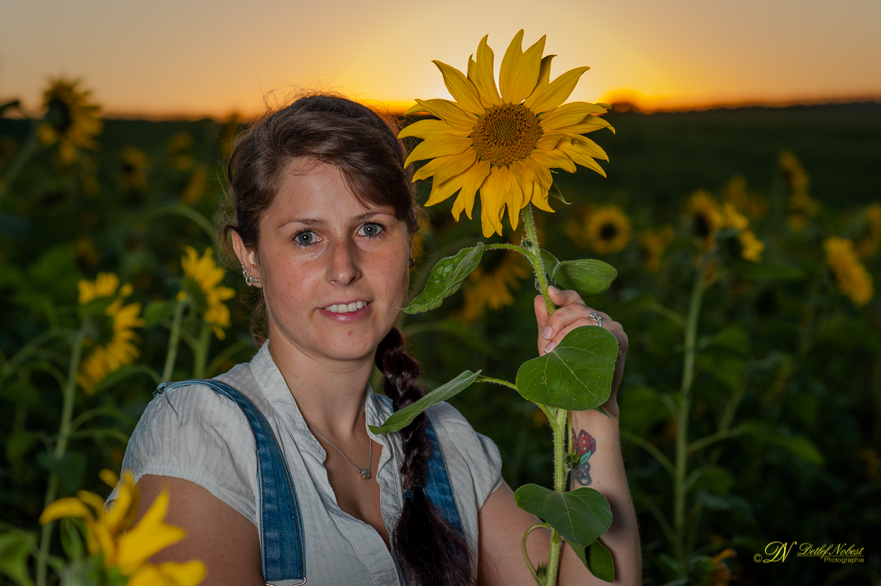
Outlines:
[[[590, 317], [593, 308], [584, 304], [581, 296], [577, 291], [559, 290], [556, 287], [549, 287], [548, 294], [551, 301], [556, 304], [559, 309], [554, 311], [551, 318], [548, 319], [548, 310], [544, 304], [544, 297], [537, 296], [535, 300], [536, 320], [538, 322], [538, 355], [544, 356], [553, 348], [556, 348], [560, 341], [566, 337], [566, 333], [571, 332], [576, 327], [596, 326], [596, 319]], [[615, 374], [611, 379], [611, 394], [609, 400], [603, 403], [603, 409], [609, 411], [610, 408], [618, 412], [618, 385], [621, 383], [621, 375], [624, 372], [624, 360], [627, 353], [627, 334], [624, 328], [617, 321], [613, 321], [608, 314], [603, 311], [596, 311], [597, 315], [602, 318], [603, 327], [609, 330], [618, 340], [618, 359], [615, 361]]]

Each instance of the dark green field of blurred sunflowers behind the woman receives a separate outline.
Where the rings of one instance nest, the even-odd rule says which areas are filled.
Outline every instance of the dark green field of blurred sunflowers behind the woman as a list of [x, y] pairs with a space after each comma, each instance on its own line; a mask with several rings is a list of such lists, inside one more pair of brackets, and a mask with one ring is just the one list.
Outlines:
[[[586, 302], [630, 341], [618, 403], [643, 582], [881, 584], [881, 106], [617, 104], [603, 120], [608, 177], [553, 174], [536, 229], [559, 260], [618, 271]], [[0, 105], [0, 583], [73, 583], [52, 563], [76, 549], [72, 525], [43, 510], [108, 494], [160, 382], [254, 354], [253, 300], [214, 228], [245, 124], [103, 120], [65, 78], [39, 111]], [[418, 182], [419, 201], [431, 188]], [[484, 239], [454, 205], [427, 210], [414, 295]], [[402, 314], [422, 385], [465, 364], [515, 377], [536, 294], [522, 257], [492, 250], [443, 307]], [[508, 484], [549, 486], [542, 411], [489, 385], [452, 402], [499, 446]], [[845, 562], [817, 553], [851, 546]], [[105, 562], [107, 583], [159, 571]]]

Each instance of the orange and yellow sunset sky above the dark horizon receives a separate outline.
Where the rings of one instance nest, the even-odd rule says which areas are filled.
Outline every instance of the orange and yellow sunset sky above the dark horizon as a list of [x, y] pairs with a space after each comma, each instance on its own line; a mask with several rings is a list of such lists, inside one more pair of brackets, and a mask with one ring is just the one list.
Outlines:
[[266, 92], [342, 91], [393, 108], [448, 97], [489, 33], [498, 70], [524, 28], [552, 76], [589, 70], [572, 99], [648, 107], [881, 99], [881, 2], [119, 0], [0, 2], [0, 100], [40, 106], [81, 77], [106, 114], [250, 114]]

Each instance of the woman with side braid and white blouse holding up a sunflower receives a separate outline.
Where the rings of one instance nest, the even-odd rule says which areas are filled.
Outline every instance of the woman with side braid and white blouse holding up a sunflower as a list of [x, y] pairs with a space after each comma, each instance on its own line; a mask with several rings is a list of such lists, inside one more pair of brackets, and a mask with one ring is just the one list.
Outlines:
[[[417, 230], [404, 159], [386, 121], [330, 96], [299, 99], [241, 137], [228, 169], [232, 220], [224, 236], [257, 289], [268, 340], [250, 363], [218, 380], [253, 402], [284, 454], [299, 499], [308, 583], [534, 583], [521, 543], [539, 521], [516, 506], [491, 440], [446, 403], [399, 433], [367, 429], [422, 396], [418, 365], [394, 327], [406, 304]], [[574, 291], [552, 289], [552, 300], [560, 309], [548, 319], [536, 298], [539, 354], [574, 327], [596, 324]], [[574, 487], [593, 482], [611, 502], [614, 522], [603, 542], [615, 559], [616, 583], [638, 584], [639, 537], [615, 394], [627, 338], [599, 315], [619, 342], [603, 406], [612, 419], [574, 414], [575, 433], [589, 431], [596, 440], [590, 477], [580, 475]], [[374, 363], [390, 406], [367, 384]], [[455, 522], [426, 496], [432, 437], [448, 472]], [[265, 582], [255, 435], [232, 400], [205, 385], [162, 392], [138, 422], [123, 468], [135, 474], [142, 514], [170, 487], [167, 522], [188, 531], [156, 561], [203, 560], [204, 583], [212, 586]], [[530, 534], [534, 563], [547, 560], [548, 544], [547, 531]], [[603, 583], [568, 547], [561, 563], [561, 583]]]

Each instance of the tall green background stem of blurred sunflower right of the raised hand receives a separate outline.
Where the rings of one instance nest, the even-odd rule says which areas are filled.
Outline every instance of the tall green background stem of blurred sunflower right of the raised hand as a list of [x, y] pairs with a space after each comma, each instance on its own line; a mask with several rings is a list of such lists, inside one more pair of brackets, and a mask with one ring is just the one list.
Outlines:
[[685, 568], [685, 476], [688, 472], [688, 416], [691, 413], [691, 391], [694, 380], [694, 358], [696, 355], [700, 302], [704, 293], [704, 273], [714, 251], [701, 255], [700, 267], [694, 278], [692, 295], [685, 318], [685, 360], [682, 367], [682, 387], [679, 392], [679, 405], [676, 426], [676, 467], [673, 475], [673, 531], [676, 534], [676, 558]]

